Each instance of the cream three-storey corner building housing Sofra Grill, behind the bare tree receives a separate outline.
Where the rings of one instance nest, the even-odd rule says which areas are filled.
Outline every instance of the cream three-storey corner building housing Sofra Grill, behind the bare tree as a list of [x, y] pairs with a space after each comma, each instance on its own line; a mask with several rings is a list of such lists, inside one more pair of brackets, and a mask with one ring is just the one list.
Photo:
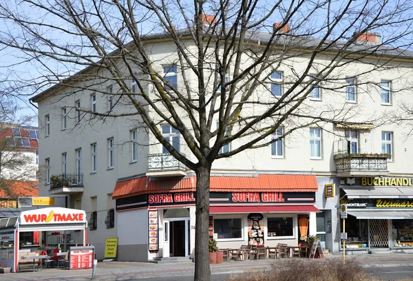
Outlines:
[[[163, 58], [155, 60], [153, 67], [162, 69], [162, 65], [173, 61], [169, 59], [174, 52], [169, 43], [151, 43]], [[322, 60], [320, 57], [319, 62]], [[300, 60], [293, 63], [294, 67], [281, 65], [283, 74], [275, 79], [282, 81], [284, 76], [292, 75], [293, 68], [301, 70], [304, 66]], [[406, 52], [398, 63], [405, 64], [399, 72], [366, 76], [366, 81], [381, 84], [381, 90], [366, 89], [362, 83], [356, 86], [347, 79], [341, 92], [315, 88], [308, 103], [314, 107], [363, 105], [363, 116], [383, 114], [389, 107], [397, 107], [402, 96], [410, 95], [401, 90], [396, 98], [392, 89], [403, 87], [401, 76], [412, 79], [413, 55]], [[362, 62], [350, 66], [343, 68], [348, 71], [342, 74], [344, 77], [351, 77], [352, 67], [369, 67]], [[171, 69], [169, 65], [166, 72], [170, 74]], [[173, 73], [179, 84], [178, 73]], [[107, 87], [107, 92], [117, 90], [109, 82], [102, 87]], [[68, 207], [86, 211], [87, 242], [95, 245], [98, 259], [104, 256], [105, 238], [114, 237], [119, 239], [118, 260], [193, 256], [193, 171], [166, 154], [133, 118], [108, 118], [103, 122], [93, 114], [74, 110], [128, 112], [132, 110], [130, 105], [114, 105], [112, 96], [93, 91], [68, 94], [70, 91], [54, 86], [32, 98], [39, 104], [39, 157], [45, 167], [39, 195], [66, 195]], [[405, 229], [409, 218], [413, 218], [409, 216], [413, 206], [407, 201], [413, 198], [413, 192], [403, 186], [413, 186], [409, 150], [413, 141], [402, 138], [407, 132], [403, 127], [374, 127], [358, 123], [357, 118], [351, 125], [297, 130], [271, 146], [215, 161], [211, 171], [210, 236], [218, 246], [296, 245], [310, 234], [319, 236], [324, 247], [339, 253], [343, 231], [339, 203], [346, 200], [350, 202], [347, 252], [408, 250], [407, 240], [413, 245], [413, 236]], [[189, 152], [171, 126], [162, 124], [160, 129], [181, 152]], [[231, 147], [237, 147], [236, 141], [223, 149]], [[74, 240], [79, 239], [76, 235], [72, 233]], [[392, 244], [393, 239], [401, 244]]]

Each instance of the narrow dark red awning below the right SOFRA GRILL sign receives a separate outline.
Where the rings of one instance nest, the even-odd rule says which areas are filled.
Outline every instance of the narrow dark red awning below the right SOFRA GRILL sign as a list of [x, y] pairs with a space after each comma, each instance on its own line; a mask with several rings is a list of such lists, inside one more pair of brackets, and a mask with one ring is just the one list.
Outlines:
[[320, 213], [317, 207], [312, 205], [297, 206], [211, 206], [209, 214], [229, 213]]

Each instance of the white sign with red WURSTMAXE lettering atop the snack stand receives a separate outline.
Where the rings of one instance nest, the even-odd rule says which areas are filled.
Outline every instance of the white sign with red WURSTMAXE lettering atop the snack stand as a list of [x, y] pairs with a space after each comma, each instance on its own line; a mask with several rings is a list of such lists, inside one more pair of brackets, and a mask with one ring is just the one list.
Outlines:
[[65, 208], [44, 208], [23, 211], [20, 215], [21, 225], [76, 222], [86, 222], [85, 211]]

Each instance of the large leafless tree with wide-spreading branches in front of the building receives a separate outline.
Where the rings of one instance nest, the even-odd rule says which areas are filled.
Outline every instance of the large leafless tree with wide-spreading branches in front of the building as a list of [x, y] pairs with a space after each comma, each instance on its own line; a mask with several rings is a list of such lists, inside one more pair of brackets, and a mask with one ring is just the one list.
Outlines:
[[[43, 94], [114, 95], [114, 103], [131, 110], [76, 110], [103, 120], [139, 116], [173, 157], [195, 171], [195, 280], [209, 280], [213, 162], [308, 126], [379, 121], [362, 105], [335, 103], [334, 96], [346, 92], [350, 76], [374, 98], [380, 85], [371, 76], [398, 71], [403, 59], [411, 63], [404, 50], [412, 42], [412, 14], [412, 4], [403, 0], [3, 1], [0, 43], [17, 50], [21, 63], [38, 67], [39, 76], [26, 81], [34, 94], [54, 85]], [[385, 33], [371, 42], [378, 37], [366, 32]], [[169, 44], [167, 52], [156, 50], [161, 40]], [[280, 68], [288, 70], [282, 81], [272, 76]], [[167, 72], [178, 73], [182, 83]], [[118, 90], [107, 90], [109, 83]], [[280, 94], [272, 93], [277, 89]], [[332, 103], [308, 101], [319, 89]], [[162, 136], [160, 123], [178, 130], [191, 156]], [[284, 132], [271, 138], [280, 126]], [[220, 151], [234, 141], [239, 145]]]

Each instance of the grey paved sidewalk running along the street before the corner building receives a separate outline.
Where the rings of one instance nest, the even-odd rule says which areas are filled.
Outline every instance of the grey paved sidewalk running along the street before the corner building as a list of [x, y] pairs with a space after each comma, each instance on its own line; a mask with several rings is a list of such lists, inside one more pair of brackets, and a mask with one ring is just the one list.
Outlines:
[[[248, 260], [245, 262], [224, 262], [211, 264], [211, 273], [243, 273], [266, 271], [278, 260]], [[343, 256], [326, 256], [324, 259], [312, 259], [309, 262], [343, 262]], [[413, 267], [413, 253], [377, 253], [346, 256], [346, 262], [359, 262], [363, 267]], [[96, 280], [127, 280], [131, 278], [156, 278], [165, 276], [191, 275], [193, 263], [154, 264], [150, 262], [98, 262]], [[43, 271], [25, 271], [21, 273], [0, 274], [0, 281], [48, 281], [48, 280], [90, 280], [92, 269], [74, 270], [43, 269]]]

